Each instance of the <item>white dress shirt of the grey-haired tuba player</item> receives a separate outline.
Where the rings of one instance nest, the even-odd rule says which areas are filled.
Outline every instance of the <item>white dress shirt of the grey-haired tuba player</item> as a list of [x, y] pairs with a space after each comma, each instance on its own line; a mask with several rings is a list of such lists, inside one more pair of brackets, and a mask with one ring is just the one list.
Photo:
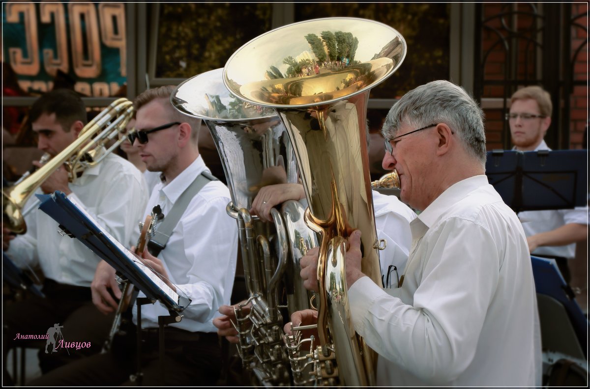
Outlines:
[[[349, 289], [379, 385], [539, 385], [540, 328], [525, 234], [484, 175], [445, 190], [411, 223], [401, 288]], [[389, 294], [388, 294], [389, 293]]]

